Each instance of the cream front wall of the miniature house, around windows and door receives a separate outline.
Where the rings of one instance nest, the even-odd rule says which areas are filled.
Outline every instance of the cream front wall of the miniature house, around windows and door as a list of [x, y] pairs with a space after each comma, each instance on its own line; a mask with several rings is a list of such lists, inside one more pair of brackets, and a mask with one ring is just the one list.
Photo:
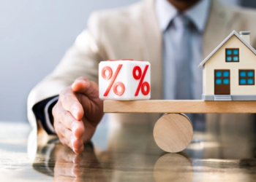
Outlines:
[[[225, 49], [239, 48], [239, 62], [226, 63]], [[230, 69], [230, 95], [256, 95], [256, 85], [239, 85], [239, 69], [255, 69], [256, 56], [235, 35], [232, 36], [215, 54], [205, 63], [203, 71], [204, 94], [214, 95], [214, 69]]]

